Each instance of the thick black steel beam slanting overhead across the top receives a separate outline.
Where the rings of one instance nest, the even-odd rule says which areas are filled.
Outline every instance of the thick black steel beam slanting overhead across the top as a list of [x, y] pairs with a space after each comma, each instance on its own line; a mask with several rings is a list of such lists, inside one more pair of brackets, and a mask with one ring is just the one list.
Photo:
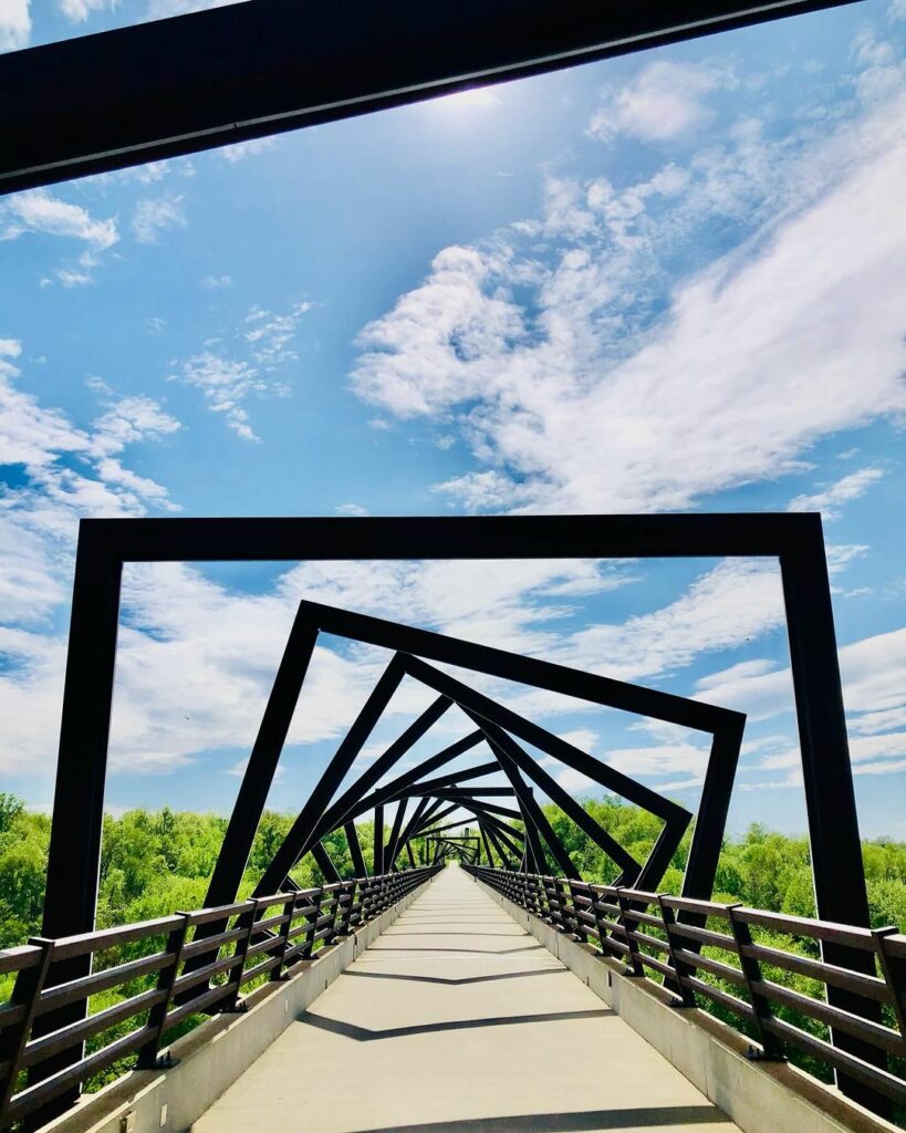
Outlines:
[[50, 185], [849, 0], [251, 0], [0, 59], [0, 185]]

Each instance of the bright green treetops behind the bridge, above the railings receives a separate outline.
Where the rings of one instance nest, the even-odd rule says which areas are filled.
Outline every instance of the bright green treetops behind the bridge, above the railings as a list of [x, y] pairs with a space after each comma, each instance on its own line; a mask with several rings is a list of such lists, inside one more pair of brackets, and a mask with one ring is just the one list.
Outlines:
[[[634, 807], [616, 801], [588, 801], [587, 809], [638, 858], [644, 858], [659, 823]], [[588, 880], [612, 881], [615, 869], [586, 834], [556, 807], [547, 813], [558, 837]], [[248, 894], [283, 840], [292, 816], [265, 813], [242, 883]], [[130, 810], [104, 823], [101, 860], [100, 928], [147, 920], [174, 909], [204, 904], [225, 819], [216, 815], [177, 813], [166, 808]], [[366, 860], [370, 860], [370, 823], [358, 827]], [[0, 947], [22, 944], [40, 931], [44, 895], [50, 819], [27, 811], [14, 795], [0, 793]], [[690, 837], [683, 841], [660, 886], [678, 892]], [[344, 877], [353, 874], [342, 832], [325, 840]], [[872, 922], [906, 926], [906, 844], [878, 840], [863, 846]], [[552, 866], [553, 868], [553, 866]], [[310, 858], [293, 871], [304, 887], [318, 885], [322, 875]], [[718, 900], [743, 901], [759, 909], [814, 915], [809, 844], [762, 826], [741, 838], [727, 840], [717, 876]]]

